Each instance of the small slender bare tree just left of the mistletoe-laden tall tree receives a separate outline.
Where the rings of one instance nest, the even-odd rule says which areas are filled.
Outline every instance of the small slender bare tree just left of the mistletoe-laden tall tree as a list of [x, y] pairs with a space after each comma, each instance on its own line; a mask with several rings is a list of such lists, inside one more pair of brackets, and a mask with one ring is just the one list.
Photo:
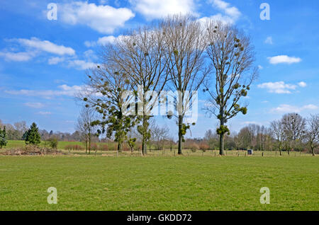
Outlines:
[[89, 150], [89, 154], [91, 154], [91, 139], [96, 132], [95, 127], [92, 125], [94, 120], [94, 110], [91, 108], [82, 108], [77, 119], [77, 130], [82, 134], [82, 140], [85, 143], [85, 153]]

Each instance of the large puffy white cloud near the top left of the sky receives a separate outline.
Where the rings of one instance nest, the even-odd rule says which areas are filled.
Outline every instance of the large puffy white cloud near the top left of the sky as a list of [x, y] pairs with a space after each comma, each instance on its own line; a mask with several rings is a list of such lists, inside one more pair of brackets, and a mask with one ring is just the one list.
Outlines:
[[113, 33], [135, 14], [129, 8], [96, 6], [88, 2], [75, 1], [60, 5], [61, 20], [65, 23], [87, 25], [100, 33]]

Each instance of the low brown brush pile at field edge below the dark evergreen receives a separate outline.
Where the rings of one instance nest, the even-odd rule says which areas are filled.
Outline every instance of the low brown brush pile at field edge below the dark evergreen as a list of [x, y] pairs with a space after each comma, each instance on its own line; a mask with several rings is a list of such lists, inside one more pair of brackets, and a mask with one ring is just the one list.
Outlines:
[[44, 155], [62, 155], [62, 151], [55, 149], [39, 148], [37, 146], [26, 146], [20, 149], [10, 149], [1, 153], [7, 156], [44, 156]]

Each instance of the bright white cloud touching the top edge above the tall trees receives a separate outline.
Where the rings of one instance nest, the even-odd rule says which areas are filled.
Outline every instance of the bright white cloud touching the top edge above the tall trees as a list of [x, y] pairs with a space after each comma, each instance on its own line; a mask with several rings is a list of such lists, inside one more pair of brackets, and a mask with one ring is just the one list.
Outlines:
[[193, 0], [130, 0], [130, 4], [136, 11], [150, 20], [169, 14], [196, 14]]

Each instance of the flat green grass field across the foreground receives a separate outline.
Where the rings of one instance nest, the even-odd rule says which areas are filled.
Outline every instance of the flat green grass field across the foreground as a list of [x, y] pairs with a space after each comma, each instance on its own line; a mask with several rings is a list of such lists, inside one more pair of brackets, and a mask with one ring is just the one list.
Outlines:
[[318, 170], [303, 156], [0, 156], [0, 210], [319, 210]]

